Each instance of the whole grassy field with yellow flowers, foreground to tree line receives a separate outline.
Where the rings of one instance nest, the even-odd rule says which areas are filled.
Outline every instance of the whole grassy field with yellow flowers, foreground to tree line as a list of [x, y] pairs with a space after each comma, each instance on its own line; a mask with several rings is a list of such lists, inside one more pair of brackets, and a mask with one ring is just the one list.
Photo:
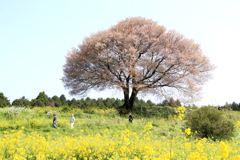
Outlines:
[[[152, 109], [154, 112], [154, 109]], [[57, 114], [59, 129], [51, 127]], [[75, 115], [70, 129], [71, 114]], [[2, 108], [0, 159], [240, 159], [239, 112], [225, 111], [236, 123], [231, 141], [193, 139], [182, 130], [184, 113], [162, 118], [115, 109]], [[188, 133], [188, 134], [187, 134]]]

